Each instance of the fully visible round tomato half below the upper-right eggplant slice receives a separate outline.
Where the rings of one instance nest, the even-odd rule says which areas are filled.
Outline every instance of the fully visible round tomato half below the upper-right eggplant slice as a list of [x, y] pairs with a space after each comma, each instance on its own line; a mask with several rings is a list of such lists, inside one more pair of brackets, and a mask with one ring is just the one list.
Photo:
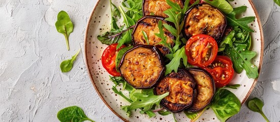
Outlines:
[[188, 63], [198, 67], [206, 67], [217, 56], [218, 44], [214, 38], [198, 34], [188, 40], [185, 49]]

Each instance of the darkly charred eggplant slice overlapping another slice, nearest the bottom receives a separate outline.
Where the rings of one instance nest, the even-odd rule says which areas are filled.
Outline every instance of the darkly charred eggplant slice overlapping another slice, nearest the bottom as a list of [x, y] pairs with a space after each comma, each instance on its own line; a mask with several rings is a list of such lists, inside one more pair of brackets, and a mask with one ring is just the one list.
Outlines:
[[195, 81], [188, 71], [179, 69], [165, 76], [155, 87], [155, 94], [169, 95], [161, 100], [161, 106], [171, 112], [180, 112], [192, 105], [195, 96]]

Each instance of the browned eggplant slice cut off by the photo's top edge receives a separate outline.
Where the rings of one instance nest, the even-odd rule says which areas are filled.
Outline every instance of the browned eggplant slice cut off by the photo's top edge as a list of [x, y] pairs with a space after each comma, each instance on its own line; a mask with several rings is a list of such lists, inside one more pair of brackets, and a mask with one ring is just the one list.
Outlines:
[[[179, 4], [181, 8], [184, 7], [182, 0], [170, 1]], [[156, 16], [168, 17], [163, 12], [170, 8], [171, 7], [166, 3], [166, 0], [143, 0], [143, 15], [151, 15], [151, 13], [154, 13]]]

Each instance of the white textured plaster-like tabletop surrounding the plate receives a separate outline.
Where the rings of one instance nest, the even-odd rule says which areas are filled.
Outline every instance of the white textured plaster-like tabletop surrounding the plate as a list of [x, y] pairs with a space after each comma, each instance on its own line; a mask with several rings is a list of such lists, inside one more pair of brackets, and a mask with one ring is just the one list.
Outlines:
[[[250, 99], [263, 100], [269, 120], [280, 121], [280, 7], [272, 0], [253, 3], [265, 43], [261, 75]], [[95, 121], [121, 121], [95, 92], [82, 53], [70, 72], [61, 73], [59, 68], [62, 60], [83, 48], [95, 4], [96, 0], [0, 0], [0, 121], [58, 121], [57, 112], [73, 105]], [[70, 51], [55, 27], [61, 10], [74, 24]], [[243, 105], [228, 121], [264, 119]]]

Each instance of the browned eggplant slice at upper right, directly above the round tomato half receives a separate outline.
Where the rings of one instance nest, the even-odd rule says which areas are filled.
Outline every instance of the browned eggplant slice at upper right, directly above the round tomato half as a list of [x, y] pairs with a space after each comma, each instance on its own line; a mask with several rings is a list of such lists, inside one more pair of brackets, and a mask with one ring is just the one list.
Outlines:
[[185, 16], [184, 35], [187, 39], [197, 34], [205, 34], [220, 41], [226, 27], [225, 16], [207, 4], [198, 4]]

